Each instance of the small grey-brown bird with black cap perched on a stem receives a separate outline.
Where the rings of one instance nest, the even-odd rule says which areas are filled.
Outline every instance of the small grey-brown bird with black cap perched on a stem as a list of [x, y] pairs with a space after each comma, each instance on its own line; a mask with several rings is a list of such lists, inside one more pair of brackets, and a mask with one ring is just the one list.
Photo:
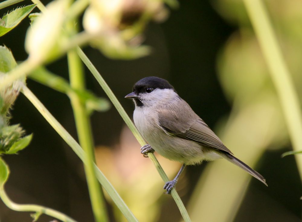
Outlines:
[[169, 160], [182, 163], [176, 177], [164, 186], [167, 194], [171, 193], [186, 165], [219, 158], [236, 164], [267, 186], [264, 177], [234, 157], [165, 79], [143, 78], [125, 98], [133, 99], [134, 124], [148, 142], [141, 147], [141, 153], [146, 155], [156, 151]]

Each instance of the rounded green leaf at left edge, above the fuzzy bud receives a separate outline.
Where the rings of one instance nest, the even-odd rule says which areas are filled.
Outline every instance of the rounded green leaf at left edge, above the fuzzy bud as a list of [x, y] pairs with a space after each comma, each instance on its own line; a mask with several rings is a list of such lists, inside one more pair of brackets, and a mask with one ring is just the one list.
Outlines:
[[14, 59], [11, 50], [9, 50], [6, 46], [0, 46], [0, 72], [9, 72], [16, 66], [17, 62]]

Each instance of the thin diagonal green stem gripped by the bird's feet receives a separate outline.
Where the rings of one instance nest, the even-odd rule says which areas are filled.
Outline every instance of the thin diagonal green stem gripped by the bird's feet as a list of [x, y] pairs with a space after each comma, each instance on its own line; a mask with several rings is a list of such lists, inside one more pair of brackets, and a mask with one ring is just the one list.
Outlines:
[[[131, 132], [133, 133], [133, 135], [135, 136], [137, 141], [140, 143], [141, 146], [145, 145], [146, 144], [145, 140], [142, 138], [142, 136], [138, 132], [137, 128], [134, 126], [133, 122], [131, 121], [131, 119], [129, 118], [127, 113], [125, 112], [124, 108], [121, 106], [120, 102], [115, 97], [114, 93], [111, 91], [110, 87], [107, 85], [107, 83], [101, 77], [98, 70], [91, 63], [91, 61], [88, 59], [88, 57], [82, 51], [82, 49], [77, 47], [77, 52], [78, 52], [78, 55], [80, 56], [80, 58], [82, 59], [82, 61], [84, 62], [84, 64], [88, 67], [88, 69], [91, 71], [92, 75], [96, 78], [98, 83], [101, 85], [101, 87], [103, 88], [103, 90], [105, 91], [105, 93], [107, 94], [107, 96], [109, 97], [109, 99], [111, 100], [111, 102], [113, 103], [115, 108], [117, 109], [120, 116], [123, 118], [123, 120], [125, 121], [127, 126], [130, 128]], [[156, 159], [156, 157], [154, 156], [154, 154], [148, 153], [148, 157], [154, 163], [156, 170], [159, 172], [159, 175], [161, 176], [163, 181], [164, 182], [169, 181], [168, 176], [165, 174], [164, 170], [160, 166], [160, 164], [159, 164], [158, 160]], [[182, 203], [182, 200], [180, 199], [178, 193], [176, 192], [176, 190], [174, 188], [172, 189], [171, 195], [174, 198], [175, 203], [177, 204], [179, 211], [182, 214], [183, 219], [186, 222], [191, 221], [190, 217], [188, 215], [188, 212], [187, 212], [184, 204]]]

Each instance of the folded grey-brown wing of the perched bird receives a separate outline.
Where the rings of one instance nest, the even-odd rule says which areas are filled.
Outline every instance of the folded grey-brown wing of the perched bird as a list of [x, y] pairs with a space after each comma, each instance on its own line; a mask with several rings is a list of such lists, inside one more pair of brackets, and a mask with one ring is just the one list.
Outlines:
[[179, 112], [178, 108], [170, 109], [169, 107], [159, 112], [159, 125], [162, 129], [169, 135], [192, 140], [201, 145], [232, 154], [208, 125], [194, 113], [188, 103], [182, 101], [184, 103], [179, 107], [182, 112]]

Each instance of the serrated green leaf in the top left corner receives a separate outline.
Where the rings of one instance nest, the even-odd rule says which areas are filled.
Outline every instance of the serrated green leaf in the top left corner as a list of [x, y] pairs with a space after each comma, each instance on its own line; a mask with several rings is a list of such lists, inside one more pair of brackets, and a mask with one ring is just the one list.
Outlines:
[[0, 19], [0, 36], [16, 27], [34, 8], [36, 4], [16, 8]]

